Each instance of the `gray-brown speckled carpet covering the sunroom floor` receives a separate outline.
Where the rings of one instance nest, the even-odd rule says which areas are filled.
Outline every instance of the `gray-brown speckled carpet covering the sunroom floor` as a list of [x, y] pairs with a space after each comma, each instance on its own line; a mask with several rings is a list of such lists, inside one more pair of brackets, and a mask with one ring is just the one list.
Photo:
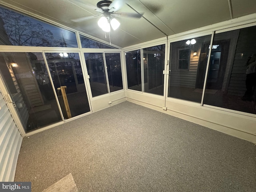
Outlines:
[[41, 192], [254, 192], [256, 146], [130, 102], [24, 138], [15, 181]]

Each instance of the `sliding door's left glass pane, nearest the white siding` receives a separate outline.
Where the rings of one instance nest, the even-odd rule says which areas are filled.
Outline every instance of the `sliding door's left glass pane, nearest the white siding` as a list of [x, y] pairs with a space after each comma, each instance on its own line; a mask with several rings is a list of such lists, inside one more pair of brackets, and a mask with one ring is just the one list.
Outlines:
[[26, 132], [62, 120], [42, 53], [0, 53], [0, 75]]

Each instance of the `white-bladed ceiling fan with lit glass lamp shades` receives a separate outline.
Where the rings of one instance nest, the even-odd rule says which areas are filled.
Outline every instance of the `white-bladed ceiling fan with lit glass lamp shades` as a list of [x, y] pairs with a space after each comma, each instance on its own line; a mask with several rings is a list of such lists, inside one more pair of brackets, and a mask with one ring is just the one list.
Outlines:
[[101, 18], [98, 20], [98, 26], [100, 26], [100, 28], [102, 28], [102, 30], [105, 32], [110, 32], [110, 26], [112, 27], [113, 30], [116, 30], [120, 26], [120, 22], [118, 22], [118, 20], [115, 18], [117, 16], [125, 16], [129, 18], [141, 18], [143, 15], [138, 12], [136, 13], [116, 12], [125, 4], [125, 0], [113, 0], [113, 1], [102, 0], [97, 3], [97, 6], [92, 6], [90, 4], [87, 4], [85, 2], [82, 2], [82, 0], [68, 0], [68, 1], [75, 4], [76, 6], [79, 6], [80, 8], [84, 8], [86, 11], [88, 9], [91, 9], [101, 13], [93, 16], [72, 19], [73, 22], [82, 22], [88, 19], [101, 16]]

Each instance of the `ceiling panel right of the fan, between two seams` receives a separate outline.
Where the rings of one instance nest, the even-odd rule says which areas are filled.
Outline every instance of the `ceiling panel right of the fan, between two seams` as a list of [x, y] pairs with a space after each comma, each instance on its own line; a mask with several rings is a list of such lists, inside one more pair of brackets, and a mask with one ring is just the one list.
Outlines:
[[[149, 4], [148, 0], [140, 1]], [[150, 4], [160, 6], [156, 16], [174, 33], [230, 19], [227, 0], [158, 0], [150, 1]]]

